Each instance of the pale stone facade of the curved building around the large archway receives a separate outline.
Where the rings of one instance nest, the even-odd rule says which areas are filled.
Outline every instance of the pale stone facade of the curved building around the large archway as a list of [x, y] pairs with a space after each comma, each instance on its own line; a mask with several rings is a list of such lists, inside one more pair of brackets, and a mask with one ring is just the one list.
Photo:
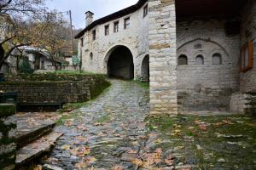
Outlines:
[[[108, 58], [114, 48], [125, 46], [133, 56], [135, 78], [142, 77], [142, 62], [148, 54], [148, 15], [143, 17], [143, 8], [132, 14], [111, 20], [84, 33], [84, 44], [79, 41], [79, 55], [82, 55], [84, 71], [107, 74]], [[124, 29], [125, 18], [130, 17], [130, 26]], [[119, 21], [119, 31], [113, 32], [113, 22]], [[109, 35], [105, 35], [105, 26], [109, 26]], [[92, 31], [96, 30], [96, 40]], [[92, 57], [90, 56], [92, 54]]]

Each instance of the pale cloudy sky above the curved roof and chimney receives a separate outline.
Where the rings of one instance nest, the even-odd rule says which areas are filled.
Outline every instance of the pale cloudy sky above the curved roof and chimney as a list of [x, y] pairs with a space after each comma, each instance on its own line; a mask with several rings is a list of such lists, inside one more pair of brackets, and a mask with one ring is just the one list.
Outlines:
[[96, 20], [135, 3], [137, 3], [137, 0], [48, 0], [47, 6], [56, 8], [61, 12], [71, 10], [73, 26], [84, 28], [84, 13], [88, 10], [95, 14], [94, 19]]

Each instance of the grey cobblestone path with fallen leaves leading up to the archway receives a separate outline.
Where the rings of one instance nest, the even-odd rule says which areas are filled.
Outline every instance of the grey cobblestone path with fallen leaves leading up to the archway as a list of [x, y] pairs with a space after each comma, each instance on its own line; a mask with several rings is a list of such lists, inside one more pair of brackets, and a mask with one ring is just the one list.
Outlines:
[[[64, 135], [46, 162], [63, 169], [135, 169], [131, 163], [145, 139], [148, 89], [137, 82], [112, 86], [55, 131]], [[120, 166], [120, 167], [119, 167]]]

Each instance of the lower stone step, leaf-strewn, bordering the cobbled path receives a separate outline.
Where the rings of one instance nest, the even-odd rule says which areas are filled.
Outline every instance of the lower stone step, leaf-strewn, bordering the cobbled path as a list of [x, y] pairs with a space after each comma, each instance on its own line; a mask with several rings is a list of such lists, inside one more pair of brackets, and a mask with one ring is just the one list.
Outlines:
[[20, 148], [20, 150], [17, 150], [16, 167], [25, 165], [49, 152], [55, 146], [55, 141], [59, 139], [62, 134], [63, 133], [49, 133], [31, 144]]

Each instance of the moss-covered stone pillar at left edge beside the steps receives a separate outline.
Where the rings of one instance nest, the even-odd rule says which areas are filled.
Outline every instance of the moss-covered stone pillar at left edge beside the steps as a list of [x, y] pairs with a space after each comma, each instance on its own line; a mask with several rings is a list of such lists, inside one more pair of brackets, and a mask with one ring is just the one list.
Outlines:
[[16, 107], [12, 104], [0, 104], [0, 169], [15, 168], [16, 140], [15, 121]]

